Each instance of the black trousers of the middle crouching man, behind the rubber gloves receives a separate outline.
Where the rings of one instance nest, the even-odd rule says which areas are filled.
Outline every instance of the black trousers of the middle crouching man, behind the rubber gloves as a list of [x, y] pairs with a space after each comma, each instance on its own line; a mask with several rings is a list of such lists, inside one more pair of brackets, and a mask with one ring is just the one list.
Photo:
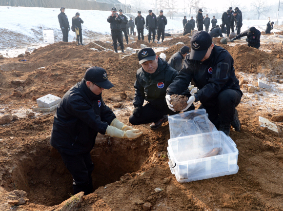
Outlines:
[[[194, 110], [194, 105], [190, 106], [187, 111]], [[164, 106], [164, 109], [157, 109], [152, 104], [147, 103], [142, 107], [142, 114], [140, 117], [135, 117], [134, 115], [130, 115], [129, 122], [132, 125], [141, 125], [148, 124], [152, 122], [157, 122], [164, 115], [176, 115], [179, 112], [171, 111], [167, 104]]]

